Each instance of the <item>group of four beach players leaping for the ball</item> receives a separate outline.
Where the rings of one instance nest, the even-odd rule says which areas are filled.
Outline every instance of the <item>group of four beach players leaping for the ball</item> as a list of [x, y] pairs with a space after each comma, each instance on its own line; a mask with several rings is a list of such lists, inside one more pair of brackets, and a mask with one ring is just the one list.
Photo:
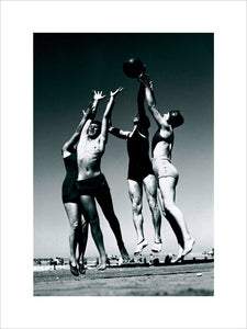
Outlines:
[[[194, 239], [191, 237], [182, 212], [175, 202], [178, 171], [171, 163], [173, 129], [183, 123], [179, 111], [164, 115], [157, 110], [153, 83], [146, 73], [137, 78], [139, 90], [137, 114], [133, 120], [133, 131], [125, 132], [112, 125], [112, 110], [115, 97], [122, 87], [110, 92], [102, 122], [96, 121], [99, 102], [105, 98], [102, 91], [93, 92], [93, 101], [71, 136], [63, 146], [66, 178], [63, 183], [63, 203], [69, 218], [69, 266], [74, 275], [85, 274], [85, 251], [88, 239], [88, 226], [100, 254], [99, 271], [106, 269], [106, 253], [100, 228], [96, 201], [100, 205], [115, 236], [122, 262], [130, 262], [130, 254], [124, 246], [120, 222], [114, 213], [112, 196], [105, 177], [101, 172], [101, 158], [104, 154], [109, 133], [126, 140], [128, 155], [127, 184], [132, 202], [133, 222], [137, 235], [134, 254], [139, 254], [148, 245], [144, 236], [143, 188], [151, 213], [155, 230], [151, 251], [160, 252], [161, 213], [169, 222], [178, 240], [178, 254], [172, 262], [178, 262], [191, 252]], [[158, 125], [151, 141], [151, 160], [149, 158], [148, 128], [150, 122], [145, 113], [145, 100]], [[158, 202], [159, 200], [159, 202]], [[161, 213], [160, 213], [161, 209]], [[78, 249], [78, 256], [77, 256]]]

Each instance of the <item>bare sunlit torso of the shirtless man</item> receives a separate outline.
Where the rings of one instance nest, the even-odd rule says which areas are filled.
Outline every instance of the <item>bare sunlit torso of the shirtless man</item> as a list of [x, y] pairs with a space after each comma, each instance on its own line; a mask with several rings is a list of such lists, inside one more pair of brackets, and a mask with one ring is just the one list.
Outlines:
[[103, 155], [100, 136], [90, 139], [87, 135], [80, 138], [77, 147], [78, 180], [85, 180], [101, 173], [100, 163]]

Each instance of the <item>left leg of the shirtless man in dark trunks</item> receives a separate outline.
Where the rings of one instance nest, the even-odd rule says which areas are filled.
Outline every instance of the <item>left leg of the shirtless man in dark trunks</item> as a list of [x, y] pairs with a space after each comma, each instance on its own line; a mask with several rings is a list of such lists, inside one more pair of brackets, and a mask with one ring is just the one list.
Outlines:
[[85, 219], [90, 224], [92, 238], [100, 253], [101, 265], [99, 270], [104, 270], [106, 268], [106, 254], [94, 198], [89, 195], [80, 195], [80, 203]]

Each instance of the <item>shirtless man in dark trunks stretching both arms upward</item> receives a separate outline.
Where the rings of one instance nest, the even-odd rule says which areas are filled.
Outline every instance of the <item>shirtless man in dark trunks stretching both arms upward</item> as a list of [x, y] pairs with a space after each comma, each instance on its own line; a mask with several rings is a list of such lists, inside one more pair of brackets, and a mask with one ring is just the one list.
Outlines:
[[[114, 214], [110, 189], [100, 169], [101, 158], [108, 141], [109, 117], [114, 104], [114, 98], [122, 90], [123, 88], [119, 88], [116, 91], [110, 92], [110, 100], [103, 114], [102, 124], [91, 118], [86, 122], [77, 147], [77, 189], [80, 195], [79, 201], [83, 216], [91, 226], [92, 238], [100, 253], [101, 263], [98, 270], [104, 270], [106, 268], [106, 254], [96, 200], [113, 230], [123, 260], [130, 260], [122, 239], [120, 223]], [[99, 98], [102, 99], [104, 97], [101, 93]]]

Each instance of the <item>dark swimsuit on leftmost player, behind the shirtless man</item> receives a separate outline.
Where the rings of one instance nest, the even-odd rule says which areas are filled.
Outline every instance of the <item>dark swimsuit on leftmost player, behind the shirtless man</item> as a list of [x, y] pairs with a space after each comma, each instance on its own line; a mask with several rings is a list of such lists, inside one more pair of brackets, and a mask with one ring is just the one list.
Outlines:
[[66, 177], [61, 186], [61, 200], [63, 203], [74, 202], [77, 203], [78, 191], [76, 181], [78, 177], [77, 167], [77, 152], [72, 152], [70, 156], [64, 158]]

